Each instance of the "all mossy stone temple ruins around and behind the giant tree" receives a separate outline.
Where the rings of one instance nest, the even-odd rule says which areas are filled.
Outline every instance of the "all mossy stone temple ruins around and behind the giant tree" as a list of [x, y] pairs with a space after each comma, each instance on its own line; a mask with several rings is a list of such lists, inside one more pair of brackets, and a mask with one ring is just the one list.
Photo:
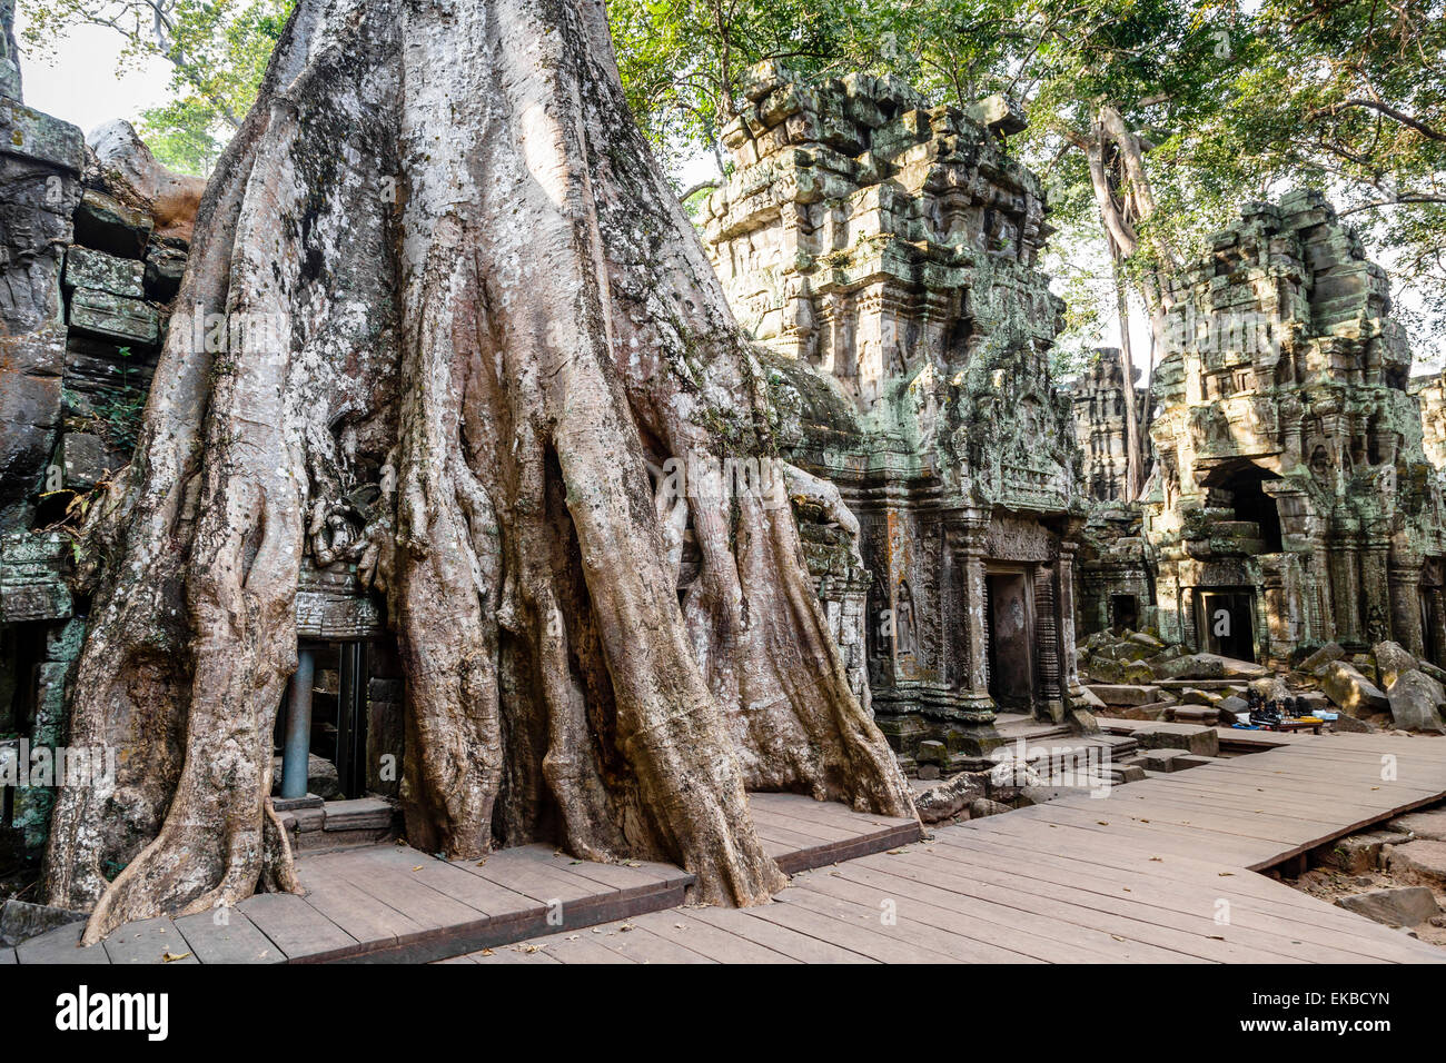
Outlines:
[[[1407, 389], [1384, 275], [1319, 197], [1246, 208], [1176, 279], [1150, 404], [1118, 351], [1071, 396], [1050, 369], [1047, 205], [1005, 145], [1017, 108], [931, 107], [892, 78], [801, 84], [777, 64], [743, 91], [724, 132], [736, 168], [698, 223], [766, 349], [790, 495], [852, 684], [907, 769], [977, 772], [1002, 716], [1095, 732], [1076, 631], [1095, 687], [1181, 675], [1189, 651], [1258, 678], [1254, 662], [1326, 644], [1322, 667], [1362, 683], [1372, 662], [1333, 658], [1394, 638], [1446, 659], [1427, 460], [1446, 457], [1446, 385]], [[4, 758], [64, 742], [88, 609], [74, 506], [129, 461], [161, 340], [174, 311], [185, 320], [200, 188], [123, 123], [87, 145], [26, 108], [3, 65], [0, 95]], [[1152, 444], [1134, 503], [1129, 392]], [[382, 751], [402, 748], [401, 670], [344, 550], [372, 500], [348, 496], [314, 529], [298, 593], [289, 697], [317, 727], [291, 749], [299, 793], [285, 790], [295, 771], [276, 775], [299, 849], [392, 823], [380, 801], [317, 807], [398, 787]], [[1116, 645], [1106, 629], [1135, 635]], [[45, 785], [4, 790], [0, 855], [38, 852], [49, 803]]]

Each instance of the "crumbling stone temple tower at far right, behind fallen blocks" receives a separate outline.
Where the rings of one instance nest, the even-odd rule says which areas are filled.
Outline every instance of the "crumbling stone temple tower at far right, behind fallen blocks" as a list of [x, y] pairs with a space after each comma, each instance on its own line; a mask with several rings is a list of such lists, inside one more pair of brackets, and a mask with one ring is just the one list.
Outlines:
[[1314, 192], [1212, 244], [1170, 288], [1141, 622], [1246, 661], [1387, 639], [1442, 659], [1440, 489], [1384, 272]]

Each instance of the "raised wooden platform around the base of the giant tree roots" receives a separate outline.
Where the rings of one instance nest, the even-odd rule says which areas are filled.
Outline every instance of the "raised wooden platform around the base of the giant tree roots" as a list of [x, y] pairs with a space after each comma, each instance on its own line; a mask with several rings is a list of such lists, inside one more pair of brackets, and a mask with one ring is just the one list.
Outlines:
[[[912, 820], [792, 794], [750, 794], [765, 849], [788, 872], [920, 837]], [[3, 963], [422, 962], [675, 908], [693, 876], [665, 863], [576, 861], [549, 846], [441, 861], [401, 845], [302, 856], [305, 897], [260, 894], [234, 910], [129, 923], [78, 949], [80, 924], [0, 949]], [[168, 957], [171, 957], [168, 960]]]

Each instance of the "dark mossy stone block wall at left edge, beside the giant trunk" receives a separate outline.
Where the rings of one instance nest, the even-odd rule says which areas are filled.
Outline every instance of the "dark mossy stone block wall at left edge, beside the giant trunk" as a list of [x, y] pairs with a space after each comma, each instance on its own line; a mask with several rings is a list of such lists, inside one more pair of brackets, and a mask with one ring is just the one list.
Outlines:
[[0, 4], [0, 767], [23, 759], [29, 784], [7, 788], [0, 849], [35, 856], [85, 632], [71, 503], [130, 460], [187, 243], [136, 202], [123, 168], [161, 168], [129, 126], [93, 150], [20, 101], [12, 13]]

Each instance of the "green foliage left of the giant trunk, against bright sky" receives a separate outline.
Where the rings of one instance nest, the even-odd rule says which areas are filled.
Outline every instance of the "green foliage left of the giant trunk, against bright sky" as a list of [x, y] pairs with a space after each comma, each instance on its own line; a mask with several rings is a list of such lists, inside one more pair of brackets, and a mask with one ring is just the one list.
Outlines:
[[171, 103], [145, 111], [140, 130], [168, 166], [204, 175], [256, 100], [295, 0], [20, 0], [26, 43], [52, 51], [77, 26], [121, 36], [121, 68], [147, 56], [171, 64]]

